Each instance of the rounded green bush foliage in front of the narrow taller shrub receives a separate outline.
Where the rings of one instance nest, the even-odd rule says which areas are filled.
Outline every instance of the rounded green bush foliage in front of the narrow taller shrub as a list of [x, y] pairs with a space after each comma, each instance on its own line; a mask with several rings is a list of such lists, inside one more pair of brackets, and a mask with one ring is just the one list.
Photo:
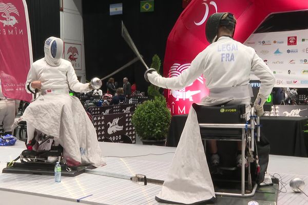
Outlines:
[[139, 105], [131, 122], [144, 145], [164, 146], [170, 120], [166, 99], [160, 95]]

